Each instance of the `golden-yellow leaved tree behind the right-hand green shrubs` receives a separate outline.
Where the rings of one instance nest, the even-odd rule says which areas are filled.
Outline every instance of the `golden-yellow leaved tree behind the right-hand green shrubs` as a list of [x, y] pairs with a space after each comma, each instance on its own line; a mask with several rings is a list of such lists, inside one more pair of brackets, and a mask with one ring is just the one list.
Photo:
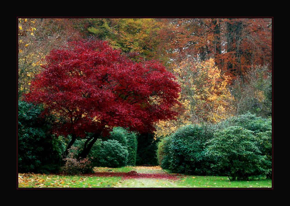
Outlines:
[[232, 114], [230, 78], [221, 73], [213, 59], [203, 62], [187, 59], [172, 69], [182, 88], [179, 101], [184, 110], [177, 121], [160, 121], [156, 137], [170, 135], [189, 123], [219, 122]]

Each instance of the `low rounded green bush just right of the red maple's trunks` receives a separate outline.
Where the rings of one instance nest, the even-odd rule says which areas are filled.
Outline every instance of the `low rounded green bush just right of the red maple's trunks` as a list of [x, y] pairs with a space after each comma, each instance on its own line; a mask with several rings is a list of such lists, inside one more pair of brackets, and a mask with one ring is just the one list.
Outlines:
[[128, 151], [117, 140], [102, 141], [98, 157], [99, 166], [122, 167], [127, 164]]

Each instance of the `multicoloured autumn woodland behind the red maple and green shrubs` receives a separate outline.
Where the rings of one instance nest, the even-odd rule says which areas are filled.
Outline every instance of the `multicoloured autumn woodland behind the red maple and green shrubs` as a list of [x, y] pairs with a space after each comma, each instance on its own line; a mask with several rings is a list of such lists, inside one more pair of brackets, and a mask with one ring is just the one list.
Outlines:
[[[161, 164], [152, 161], [157, 150], [157, 145], [150, 148], [152, 141], [174, 135], [186, 125], [218, 125], [244, 114], [272, 117], [272, 18], [17, 21], [19, 102], [23, 94], [29, 93], [31, 80], [43, 71], [41, 65], [50, 51], [84, 39], [106, 41], [136, 62], [158, 60], [177, 77], [181, 87], [178, 101], [182, 105], [176, 108], [178, 118], [160, 121], [154, 133], [139, 135], [137, 162], [132, 164]], [[148, 151], [152, 151], [150, 155], [146, 154]]]

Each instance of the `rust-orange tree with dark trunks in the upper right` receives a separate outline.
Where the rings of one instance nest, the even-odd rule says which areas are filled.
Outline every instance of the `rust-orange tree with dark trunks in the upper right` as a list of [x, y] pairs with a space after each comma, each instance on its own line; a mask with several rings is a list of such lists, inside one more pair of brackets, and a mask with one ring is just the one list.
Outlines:
[[[162, 41], [174, 60], [215, 59], [231, 77], [243, 76], [252, 65], [272, 62], [270, 18], [176, 18], [167, 22]], [[167, 34], [167, 35], [166, 35]]]

